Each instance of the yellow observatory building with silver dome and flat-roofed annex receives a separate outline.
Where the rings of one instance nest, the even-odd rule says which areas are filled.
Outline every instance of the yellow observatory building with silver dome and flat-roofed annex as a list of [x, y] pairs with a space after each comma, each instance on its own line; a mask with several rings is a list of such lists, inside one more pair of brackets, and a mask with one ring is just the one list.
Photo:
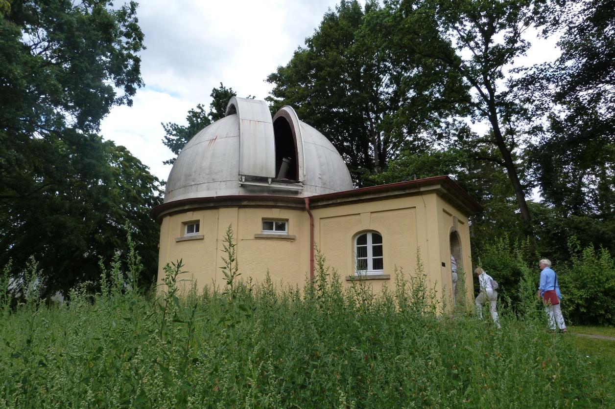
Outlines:
[[181, 150], [167, 180], [158, 280], [183, 259], [197, 285], [223, 286], [223, 238], [229, 225], [242, 278], [302, 287], [314, 272], [314, 247], [344, 283], [394, 285], [395, 267], [415, 271], [451, 296], [450, 255], [471, 293], [468, 217], [480, 210], [448, 176], [354, 189], [323, 134], [290, 106], [273, 117], [256, 99], [231, 98], [226, 117]]

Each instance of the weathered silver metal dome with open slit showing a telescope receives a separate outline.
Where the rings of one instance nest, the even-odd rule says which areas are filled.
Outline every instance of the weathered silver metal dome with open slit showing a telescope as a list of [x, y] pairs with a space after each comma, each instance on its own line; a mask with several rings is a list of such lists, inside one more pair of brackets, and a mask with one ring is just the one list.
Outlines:
[[271, 118], [265, 101], [233, 97], [226, 117], [181, 150], [164, 202], [231, 195], [308, 197], [351, 189], [338, 151], [292, 107]]

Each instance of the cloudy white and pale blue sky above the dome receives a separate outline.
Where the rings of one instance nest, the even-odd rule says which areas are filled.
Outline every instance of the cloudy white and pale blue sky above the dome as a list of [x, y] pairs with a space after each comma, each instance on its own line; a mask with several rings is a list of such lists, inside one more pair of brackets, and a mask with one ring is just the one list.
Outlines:
[[[145, 34], [141, 76], [133, 106], [114, 107], [101, 134], [123, 145], [166, 180], [173, 157], [162, 144], [161, 123], [186, 125], [188, 110], [208, 109], [212, 88], [231, 87], [238, 96], [264, 99], [266, 77], [284, 66], [314, 34], [336, 0], [141, 0], [137, 11]], [[544, 62], [557, 53], [555, 41], [539, 41], [520, 64]], [[481, 131], [485, 126], [477, 125]]]

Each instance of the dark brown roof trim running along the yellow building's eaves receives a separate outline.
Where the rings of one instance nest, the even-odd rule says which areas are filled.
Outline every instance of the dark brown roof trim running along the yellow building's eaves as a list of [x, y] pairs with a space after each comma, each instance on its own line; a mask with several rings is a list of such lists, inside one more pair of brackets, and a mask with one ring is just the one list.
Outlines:
[[[426, 177], [424, 179], [416, 179], [414, 181], [405, 181], [397, 183], [389, 183], [385, 185], [377, 185], [370, 187], [362, 187], [360, 189], [344, 190], [343, 192], [325, 193], [323, 195], [311, 196], [310, 203], [314, 206], [327, 206], [338, 201], [354, 200], [371, 200], [372, 195], [380, 193], [395, 193], [400, 194], [415, 193], [420, 191], [421, 187], [434, 185], [443, 185], [446, 188], [453, 190], [462, 204], [471, 212], [480, 212], [483, 207], [474, 200], [465, 190], [456, 184], [453, 179], [448, 176]], [[346, 199], [346, 200], [345, 200]], [[214, 196], [200, 197], [174, 200], [167, 203], [162, 203], [156, 206], [151, 211], [151, 216], [154, 219], [159, 219], [163, 214], [174, 214], [188, 209], [205, 209], [205, 208], [220, 208], [220, 207], [283, 207], [292, 209], [303, 209], [303, 197], [289, 196], [271, 196], [271, 195], [232, 195], [232, 196]]]

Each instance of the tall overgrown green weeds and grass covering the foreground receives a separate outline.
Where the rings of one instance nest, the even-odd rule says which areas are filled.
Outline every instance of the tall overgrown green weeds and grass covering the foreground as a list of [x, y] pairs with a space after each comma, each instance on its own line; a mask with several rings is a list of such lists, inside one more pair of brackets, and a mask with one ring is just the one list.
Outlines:
[[344, 288], [320, 254], [303, 290], [229, 274], [200, 292], [182, 285], [180, 260], [148, 298], [117, 258], [93, 296], [78, 287], [62, 305], [4, 304], [3, 407], [615, 404], [613, 380], [594, 381], [605, 363], [545, 329], [533, 284], [522, 287], [528, 308], [501, 311], [498, 330], [466, 311], [438, 314], [420, 259], [381, 294], [365, 281]]

